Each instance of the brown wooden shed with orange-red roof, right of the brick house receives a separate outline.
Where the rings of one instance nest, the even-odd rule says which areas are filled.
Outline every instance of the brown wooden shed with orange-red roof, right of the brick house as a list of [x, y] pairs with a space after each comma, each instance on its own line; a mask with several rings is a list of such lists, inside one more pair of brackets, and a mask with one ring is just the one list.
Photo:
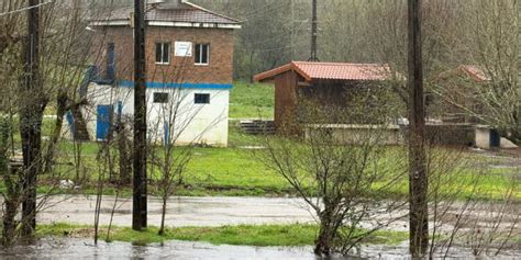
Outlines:
[[389, 66], [291, 61], [254, 77], [257, 82], [275, 83], [275, 125], [296, 116], [299, 99], [315, 99], [326, 105], [348, 105], [350, 91], [389, 79]]

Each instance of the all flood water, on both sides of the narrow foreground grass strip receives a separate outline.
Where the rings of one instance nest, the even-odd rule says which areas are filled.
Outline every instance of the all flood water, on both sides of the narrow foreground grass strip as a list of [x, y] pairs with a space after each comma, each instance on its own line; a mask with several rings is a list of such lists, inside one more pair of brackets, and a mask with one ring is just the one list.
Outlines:
[[[1, 201], [1, 200], [0, 200]], [[103, 196], [101, 225], [107, 225], [114, 197]], [[38, 223], [71, 223], [90, 225], [93, 219], [93, 197], [53, 196], [46, 207], [38, 213]], [[113, 224], [131, 224], [131, 203], [129, 199], [118, 201]], [[149, 223], [159, 223], [160, 201], [149, 200]], [[266, 197], [173, 197], [168, 202], [167, 226], [221, 226], [237, 224], [286, 224], [314, 223], [310, 208], [298, 199]], [[455, 205], [458, 208], [457, 205]], [[476, 212], [494, 212], [488, 204], [477, 205]], [[454, 210], [455, 211], [455, 210]], [[459, 212], [459, 211], [456, 211]], [[517, 213], [517, 211], [514, 211]], [[473, 213], [477, 214], [477, 213]], [[516, 214], [505, 215], [503, 225]], [[490, 216], [495, 216], [494, 214]], [[392, 217], [393, 218], [393, 217]], [[447, 223], [451, 224], [451, 219]], [[407, 230], [404, 219], [388, 227], [392, 230]], [[519, 230], [519, 229], [517, 229]], [[521, 249], [520, 247], [516, 247]], [[410, 259], [407, 241], [398, 246], [370, 245], [359, 249], [363, 259]], [[451, 258], [474, 259], [472, 250], [453, 249]], [[80, 238], [45, 238], [34, 245], [20, 245], [11, 249], [0, 249], [0, 259], [310, 259], [317, 260], [311, 247], [248, 247], [214, 246], [206, 242], [169, 241], [163, 245], [135, 246], [125, 242], [99, 242]], [[359, 258], [330, 258], [359, 259]], [[486, 258], [480, 258], [486, 259]], [[521, 259], [521, 251], [503, 252], [500, 259]]]

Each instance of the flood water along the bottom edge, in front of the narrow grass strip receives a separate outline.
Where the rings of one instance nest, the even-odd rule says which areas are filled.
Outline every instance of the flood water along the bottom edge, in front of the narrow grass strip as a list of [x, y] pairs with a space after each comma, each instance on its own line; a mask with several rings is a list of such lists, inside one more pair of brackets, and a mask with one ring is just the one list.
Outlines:
[[[364, 258], [409, 259], [407, 244], [391, 246], [367, 246], [361, 249]], [[470, 251], [456, 249], [451, 258], [470, 257]], [[517, 259], [520, 252], [506, 252], [501, 259]], [[163, 245], [133, 246], [126, 242], [99, 242], [79, 238], [45, 238], [33, 245], [19, 245], [0, 249], [0, 259], [285, 259], [318, 260], [311, 247], [248, 247], [213, 246], [207, 242], [169, 241]], [[359, 258], [328, 258], [332, 260]]]

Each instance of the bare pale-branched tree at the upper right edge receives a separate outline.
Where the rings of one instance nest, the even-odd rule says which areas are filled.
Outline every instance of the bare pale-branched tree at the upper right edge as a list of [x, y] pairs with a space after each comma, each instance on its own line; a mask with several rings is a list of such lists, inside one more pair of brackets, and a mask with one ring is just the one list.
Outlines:
[[[491, 125], [521, 144], [521, 5], [516, 0], [475, 0], [464, 5], [458, 9], [458, 18], [466, 30], [458, 35], [451, 54], [459, 64], [467, 65], [473, 76], [444, 82], [437, 93], [463, 114]], [[466, 93], [452, 95], [448, 94], [451, 89]]]

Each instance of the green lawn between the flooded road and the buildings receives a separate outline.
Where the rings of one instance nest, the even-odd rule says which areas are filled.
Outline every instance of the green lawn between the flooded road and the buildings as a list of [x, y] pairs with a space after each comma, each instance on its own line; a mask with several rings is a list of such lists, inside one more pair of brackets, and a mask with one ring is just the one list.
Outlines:
[[[193, 148], [193, 158], [185, 173], [185, 185], [175, 189], [174, 195], [280, 196], [296, 194], [295, 190], [281, 176], [259, 162], [251, 150], [241, 148], [242, 145], [262, 145], [260, 137], [242, 135], [236, 127], [231, 127], [230, 138], [232, 146], [229, 148]], [[70, 143], [60, 143], [62, 159], [69, 162], [56, 167], [57, 172], [66, 172], [59, 179], [75, 180], [74, 165], [70, 163], [73, 161], [70, 156], [73, 148], [74, 146]], [[98, 180], [98, 166], [100, 165], [96, 159], [98, 149], [99, 145], [95, 143], [81, 145], [82, 165], [86, 167], [88, 180], [82, 184], [81, 190], [76, 191], [77, 193], [97, 193], [96, 182]], [[400, 148], [389, 147], [385, 159], [381, 161], [381, 167], [389, 167], [397, 161], [402, 161], [400, 159], [403, 157], [402, 151]], [[64, 159], [64, 157], [68, 158]], [[485, 160], [485, 158], [476, 158], [475, 154], [470, 154], [470, 158], [481, 162]], [[400, 167], [407, 169], [407, 163]], [[477, 179], [478, 189], [474, 191], [470, 182], [476, 179], [475, 177], [479, 171], [473, 167], [457, 169], [447, 174], [441, 190], [444, 194], [454, 193], [461, 200], [469, 196], [481, 200], [501, 200], [506, 191], [512, 184], [516, 184], [518, 189], [514, 192], [514, 197], [521, 200], [520, 182], [512, 181], [514, 171], [514, 169], [488, 169], [486, 174]], [[519, 174], [519, 172], [517, 173]], [[157, 169], [155, 174], [151, 174], [151, 178], [153, 181], [148, 190], [152, 195], [157, 195], [157, 185], [154, 184], [154, 180], [159, 178]], [[70, 190], [52, 190], [46, 177], [41, 178], [41, 183], [38, 186], [40, 193], [75, 193]], [[375, 183], [374, 189], [378, 189], [381, 184]], [[312, 191], [311, 185], [308, 189]], [[0, 182], [1, 191], [3, 191], [3, 182]], [[388, 197], [406, 197], [408, 194], [407, 176], [402, 176], [398, 184], [387, 190], [387, 192]], [[117, 193], [117, 189], [114, 185], [107, 183], [103, 193], [113, 195]], [[131, 194], [130, 186], [120, 189], [120, 195], [130, 196]]]

